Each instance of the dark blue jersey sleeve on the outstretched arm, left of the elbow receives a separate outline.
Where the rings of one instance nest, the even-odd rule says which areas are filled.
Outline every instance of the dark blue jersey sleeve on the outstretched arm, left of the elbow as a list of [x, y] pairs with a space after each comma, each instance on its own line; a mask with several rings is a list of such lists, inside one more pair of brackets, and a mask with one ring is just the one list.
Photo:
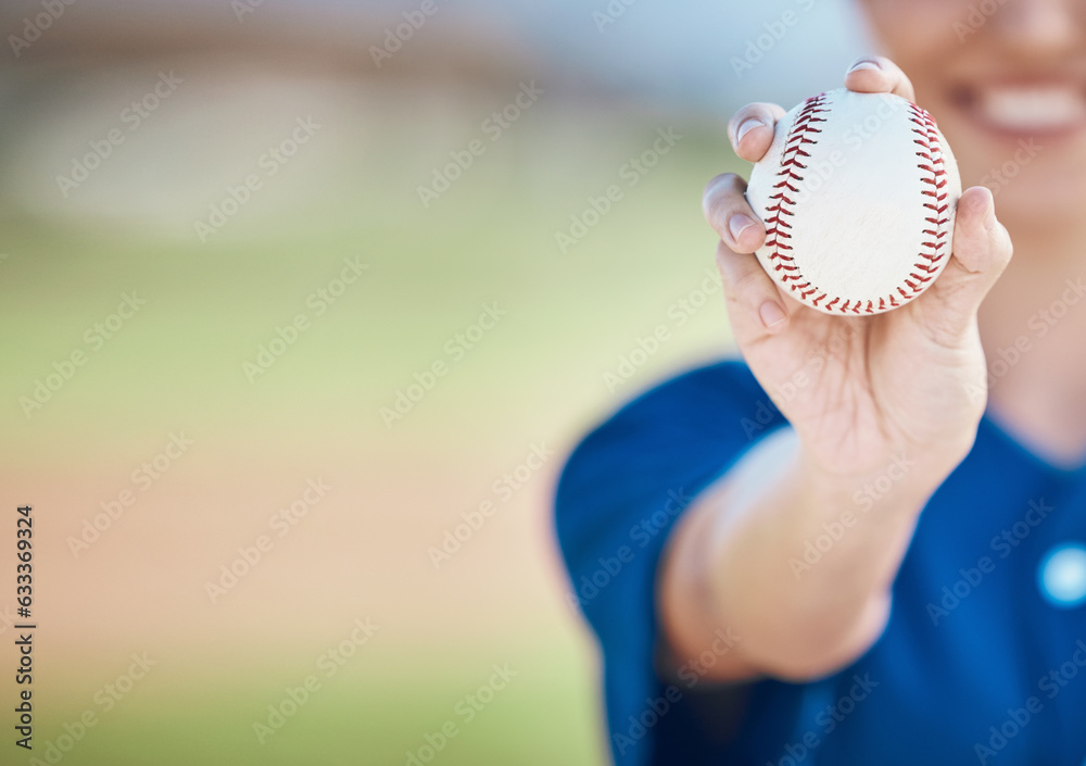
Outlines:
[[[784, 424], [747, 367], [724, 362], [624, 406], [563, 470], [555, 513], [572, 586], [567, 598], [599, 642], [608, 741], [620, 766], [661, 762], [661, 743], [693, 726], [684, 720], [687, 701], [669, 698], [654, 670], [664, 542], [698, 492]], [[697, 738], [681, 736], [683, 762], [699, 763]]]

